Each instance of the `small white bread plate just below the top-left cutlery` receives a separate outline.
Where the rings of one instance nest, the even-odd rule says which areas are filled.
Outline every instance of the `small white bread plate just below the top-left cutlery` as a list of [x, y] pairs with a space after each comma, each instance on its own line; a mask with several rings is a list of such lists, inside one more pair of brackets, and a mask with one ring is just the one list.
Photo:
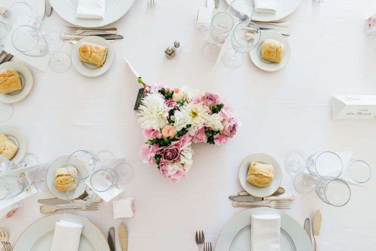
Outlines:
[[[104, 64], [102, 67], [98, 67], [94, 64], [90, 64], [87, 62], [82, 62], [78, 56], [78, 48], [83, 42], [89, 42], [101, 46], [107, 47], [107, 55], [106, 60], [104, 61]], [[72, 65], [74, 68], [79, 72], [80, 74], [84, 76], [99, 76], [107, 72], [107, 70], [110, 68], [112, 61], [114, 60], [114, 50], [112, 49], [112, 46], [109, 42], [106, 41], [106, 39], [97, 37], [97, 36], [89, 36], [81, 38], [73, 47], [72, 50]]]

